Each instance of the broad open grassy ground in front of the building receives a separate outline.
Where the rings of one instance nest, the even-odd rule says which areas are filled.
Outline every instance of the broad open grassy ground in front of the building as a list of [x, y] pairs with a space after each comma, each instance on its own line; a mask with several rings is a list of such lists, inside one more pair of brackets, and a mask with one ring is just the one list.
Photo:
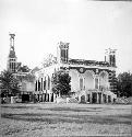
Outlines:
[[2, 137], [131, 136], [131, 105], [2, 104]]

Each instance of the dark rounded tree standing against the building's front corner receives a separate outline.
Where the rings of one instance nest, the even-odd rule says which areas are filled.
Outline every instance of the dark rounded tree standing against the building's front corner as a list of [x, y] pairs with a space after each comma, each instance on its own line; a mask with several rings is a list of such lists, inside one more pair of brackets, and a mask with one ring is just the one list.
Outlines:
[[52, 77], [52, 91], [55, 94], [69, 95], [71, 90], [71, 77], [68, 72], [60, 70]]

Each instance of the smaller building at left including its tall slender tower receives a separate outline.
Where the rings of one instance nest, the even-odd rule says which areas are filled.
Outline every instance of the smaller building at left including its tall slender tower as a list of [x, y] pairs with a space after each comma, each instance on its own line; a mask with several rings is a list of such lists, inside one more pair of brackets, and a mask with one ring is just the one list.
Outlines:
[[[11, 71], [14, 77], [20, 79], [20, 94], [29, 100], [29, 96], [35, 90], [34, 77], [31, 72], [20, 71], [21, 62], [17, 62], [17, 57], [14, 49], [14, 37], [15, 34], [10, 35], [10, 52], [8, 56], [7, 70]], [[24, 99], [24, 100], [26, 100]]]

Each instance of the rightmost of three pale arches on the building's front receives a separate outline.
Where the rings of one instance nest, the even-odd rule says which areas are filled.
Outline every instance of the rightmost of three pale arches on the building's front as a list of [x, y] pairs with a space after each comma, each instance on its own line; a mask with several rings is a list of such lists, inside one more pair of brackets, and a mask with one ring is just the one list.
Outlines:
[[101, 71], [99, 73], [99, 89], [108, 89], [109, 88], [109, 75], [107, 71]]

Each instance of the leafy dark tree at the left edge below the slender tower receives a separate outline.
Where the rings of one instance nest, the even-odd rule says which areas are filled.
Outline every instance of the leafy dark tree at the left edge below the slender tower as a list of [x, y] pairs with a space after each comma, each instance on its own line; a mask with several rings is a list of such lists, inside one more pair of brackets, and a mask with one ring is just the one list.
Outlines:
[[2, 71], [0, 75], [1, 95], [15, 95], [20, 91], [19, 80], [10, 71]]

